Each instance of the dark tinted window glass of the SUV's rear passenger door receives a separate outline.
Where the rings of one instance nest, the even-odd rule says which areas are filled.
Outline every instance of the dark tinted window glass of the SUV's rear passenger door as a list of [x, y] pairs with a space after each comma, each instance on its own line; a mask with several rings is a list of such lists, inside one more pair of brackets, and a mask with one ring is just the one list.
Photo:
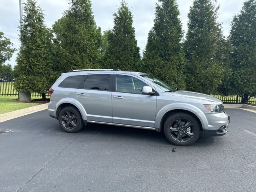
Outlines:
[[88, 75], [84, 81], [85, 89], [109, 91], [110, 75]]

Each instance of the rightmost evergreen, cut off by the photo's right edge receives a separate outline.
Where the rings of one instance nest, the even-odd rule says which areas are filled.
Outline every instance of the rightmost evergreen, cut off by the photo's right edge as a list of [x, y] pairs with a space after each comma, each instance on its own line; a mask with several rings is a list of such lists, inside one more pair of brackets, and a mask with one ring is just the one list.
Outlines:
[[[232, 76], [230, 93], [246, 103], [256, 96], [256, 0], [244, 2], [242, 10], [231, 22], [230, 42]], [[227, 86], [226, 86], [227, 87]]]

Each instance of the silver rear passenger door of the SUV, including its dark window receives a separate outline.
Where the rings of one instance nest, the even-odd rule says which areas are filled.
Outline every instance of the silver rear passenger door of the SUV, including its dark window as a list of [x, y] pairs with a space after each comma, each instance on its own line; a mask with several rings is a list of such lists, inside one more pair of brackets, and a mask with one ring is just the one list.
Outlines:
[[86, 110], [87, 120], [112, 122], [112, 74], [88, 74], [76, 90], [76, 100]]

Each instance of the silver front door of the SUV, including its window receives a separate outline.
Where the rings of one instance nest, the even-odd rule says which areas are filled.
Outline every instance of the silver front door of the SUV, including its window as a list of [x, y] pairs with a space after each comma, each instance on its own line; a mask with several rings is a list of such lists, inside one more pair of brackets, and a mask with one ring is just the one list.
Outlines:
[[136, 76], [113, 76], [113, 123], [154, 127], [156, 95], [142, 94], [143, 86], [150, 85]]

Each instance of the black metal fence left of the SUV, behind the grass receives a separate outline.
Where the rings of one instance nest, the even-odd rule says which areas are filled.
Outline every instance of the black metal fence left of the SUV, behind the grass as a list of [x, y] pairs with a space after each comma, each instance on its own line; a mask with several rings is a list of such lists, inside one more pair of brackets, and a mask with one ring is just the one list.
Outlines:
[[[10, 72], [0, 72], [0, 96], [19, 96], [18, 91], [14, 89], [15, 78]], [[42, 97], [39, 93], [31, 93], [32, 97]], [[46, 96], [49, 96], [46, 93]]]

